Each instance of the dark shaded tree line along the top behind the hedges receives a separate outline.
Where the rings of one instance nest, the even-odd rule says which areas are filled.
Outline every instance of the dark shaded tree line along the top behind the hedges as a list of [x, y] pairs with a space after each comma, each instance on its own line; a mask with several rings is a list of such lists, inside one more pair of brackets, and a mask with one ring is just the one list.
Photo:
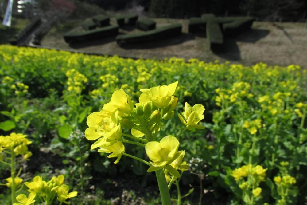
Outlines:
[[105, 10], [141, 5], [153, 17], [190, 18], [204, 13], [216, 16], [253, 16], [266, 21], [302, 21], [306, 0], [82, 0]]

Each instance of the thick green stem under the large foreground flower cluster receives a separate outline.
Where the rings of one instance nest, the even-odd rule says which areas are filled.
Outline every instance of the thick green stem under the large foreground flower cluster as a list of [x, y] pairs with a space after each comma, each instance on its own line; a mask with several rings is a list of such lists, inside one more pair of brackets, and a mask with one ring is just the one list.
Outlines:
[[156, 171], [159, 191], [161, 195], [162, 205], [171, 205], [171, 197], [169, 195], [169, 189], [165, 179], [164, 171], [162, 169]]

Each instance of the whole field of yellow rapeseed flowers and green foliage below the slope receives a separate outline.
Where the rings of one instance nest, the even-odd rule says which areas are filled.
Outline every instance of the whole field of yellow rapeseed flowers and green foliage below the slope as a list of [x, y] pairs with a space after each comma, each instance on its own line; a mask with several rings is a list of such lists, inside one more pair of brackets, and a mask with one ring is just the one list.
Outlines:
[[307, 202], [298, 65], [2, 45], [0, 81], [1, 204]]

